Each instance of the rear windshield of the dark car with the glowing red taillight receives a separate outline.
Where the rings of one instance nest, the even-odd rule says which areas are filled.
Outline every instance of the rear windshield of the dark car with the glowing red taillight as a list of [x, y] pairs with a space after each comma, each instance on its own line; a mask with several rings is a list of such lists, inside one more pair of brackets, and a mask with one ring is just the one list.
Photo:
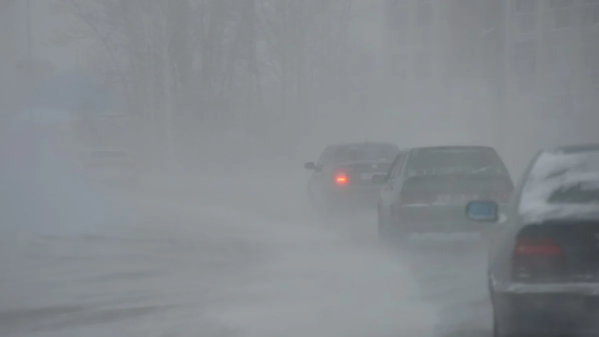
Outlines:
[[332, 156], [334, 163], [352, 161], [381, 161], [391, 162], [397, 157], [400, 149], [392, 144], [360, 144], [341, 145], [335, 149]]

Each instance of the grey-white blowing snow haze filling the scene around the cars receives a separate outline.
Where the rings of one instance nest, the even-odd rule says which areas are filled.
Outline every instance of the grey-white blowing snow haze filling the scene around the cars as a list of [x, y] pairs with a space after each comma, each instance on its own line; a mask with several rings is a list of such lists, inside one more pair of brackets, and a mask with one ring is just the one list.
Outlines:
[[376, 212], [314, 212], [302, 164], [489, 145], [517, 181], [598, 142], [596, 18], [537, 0], [521, 32], [502, 3], [2, 1], [0, 335], [490, 336], [484, 247], [386, 249]]

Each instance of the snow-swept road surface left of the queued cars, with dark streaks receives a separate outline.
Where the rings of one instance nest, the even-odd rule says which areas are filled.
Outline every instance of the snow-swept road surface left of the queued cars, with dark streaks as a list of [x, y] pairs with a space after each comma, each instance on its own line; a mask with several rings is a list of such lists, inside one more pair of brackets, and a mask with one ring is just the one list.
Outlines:
[[323, 221], [292, 176], [98, 188], [110, 224], [4, 230], [0, 336], [490, 335], [476, 241], [383, 248], [373, 214]]

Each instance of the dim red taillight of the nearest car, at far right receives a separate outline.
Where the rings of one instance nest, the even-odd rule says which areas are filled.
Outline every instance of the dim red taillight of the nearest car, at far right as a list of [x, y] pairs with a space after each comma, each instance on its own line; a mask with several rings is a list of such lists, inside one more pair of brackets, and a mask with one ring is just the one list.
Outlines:
[[555, 275], [564, 266], [564, 255], [555, 240], [547, 237], [519, 237], [512, 254], [516, 279], [539, 279]]

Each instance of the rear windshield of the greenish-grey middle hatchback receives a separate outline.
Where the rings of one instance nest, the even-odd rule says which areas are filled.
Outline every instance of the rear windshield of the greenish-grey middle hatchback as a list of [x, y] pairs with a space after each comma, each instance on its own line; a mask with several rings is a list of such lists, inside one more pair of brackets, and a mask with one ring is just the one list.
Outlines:
[[418, 149], [412, 152], [407, 169], [409, 176], [451, 173], [508, 174], [497, 153], [489, 148]]

